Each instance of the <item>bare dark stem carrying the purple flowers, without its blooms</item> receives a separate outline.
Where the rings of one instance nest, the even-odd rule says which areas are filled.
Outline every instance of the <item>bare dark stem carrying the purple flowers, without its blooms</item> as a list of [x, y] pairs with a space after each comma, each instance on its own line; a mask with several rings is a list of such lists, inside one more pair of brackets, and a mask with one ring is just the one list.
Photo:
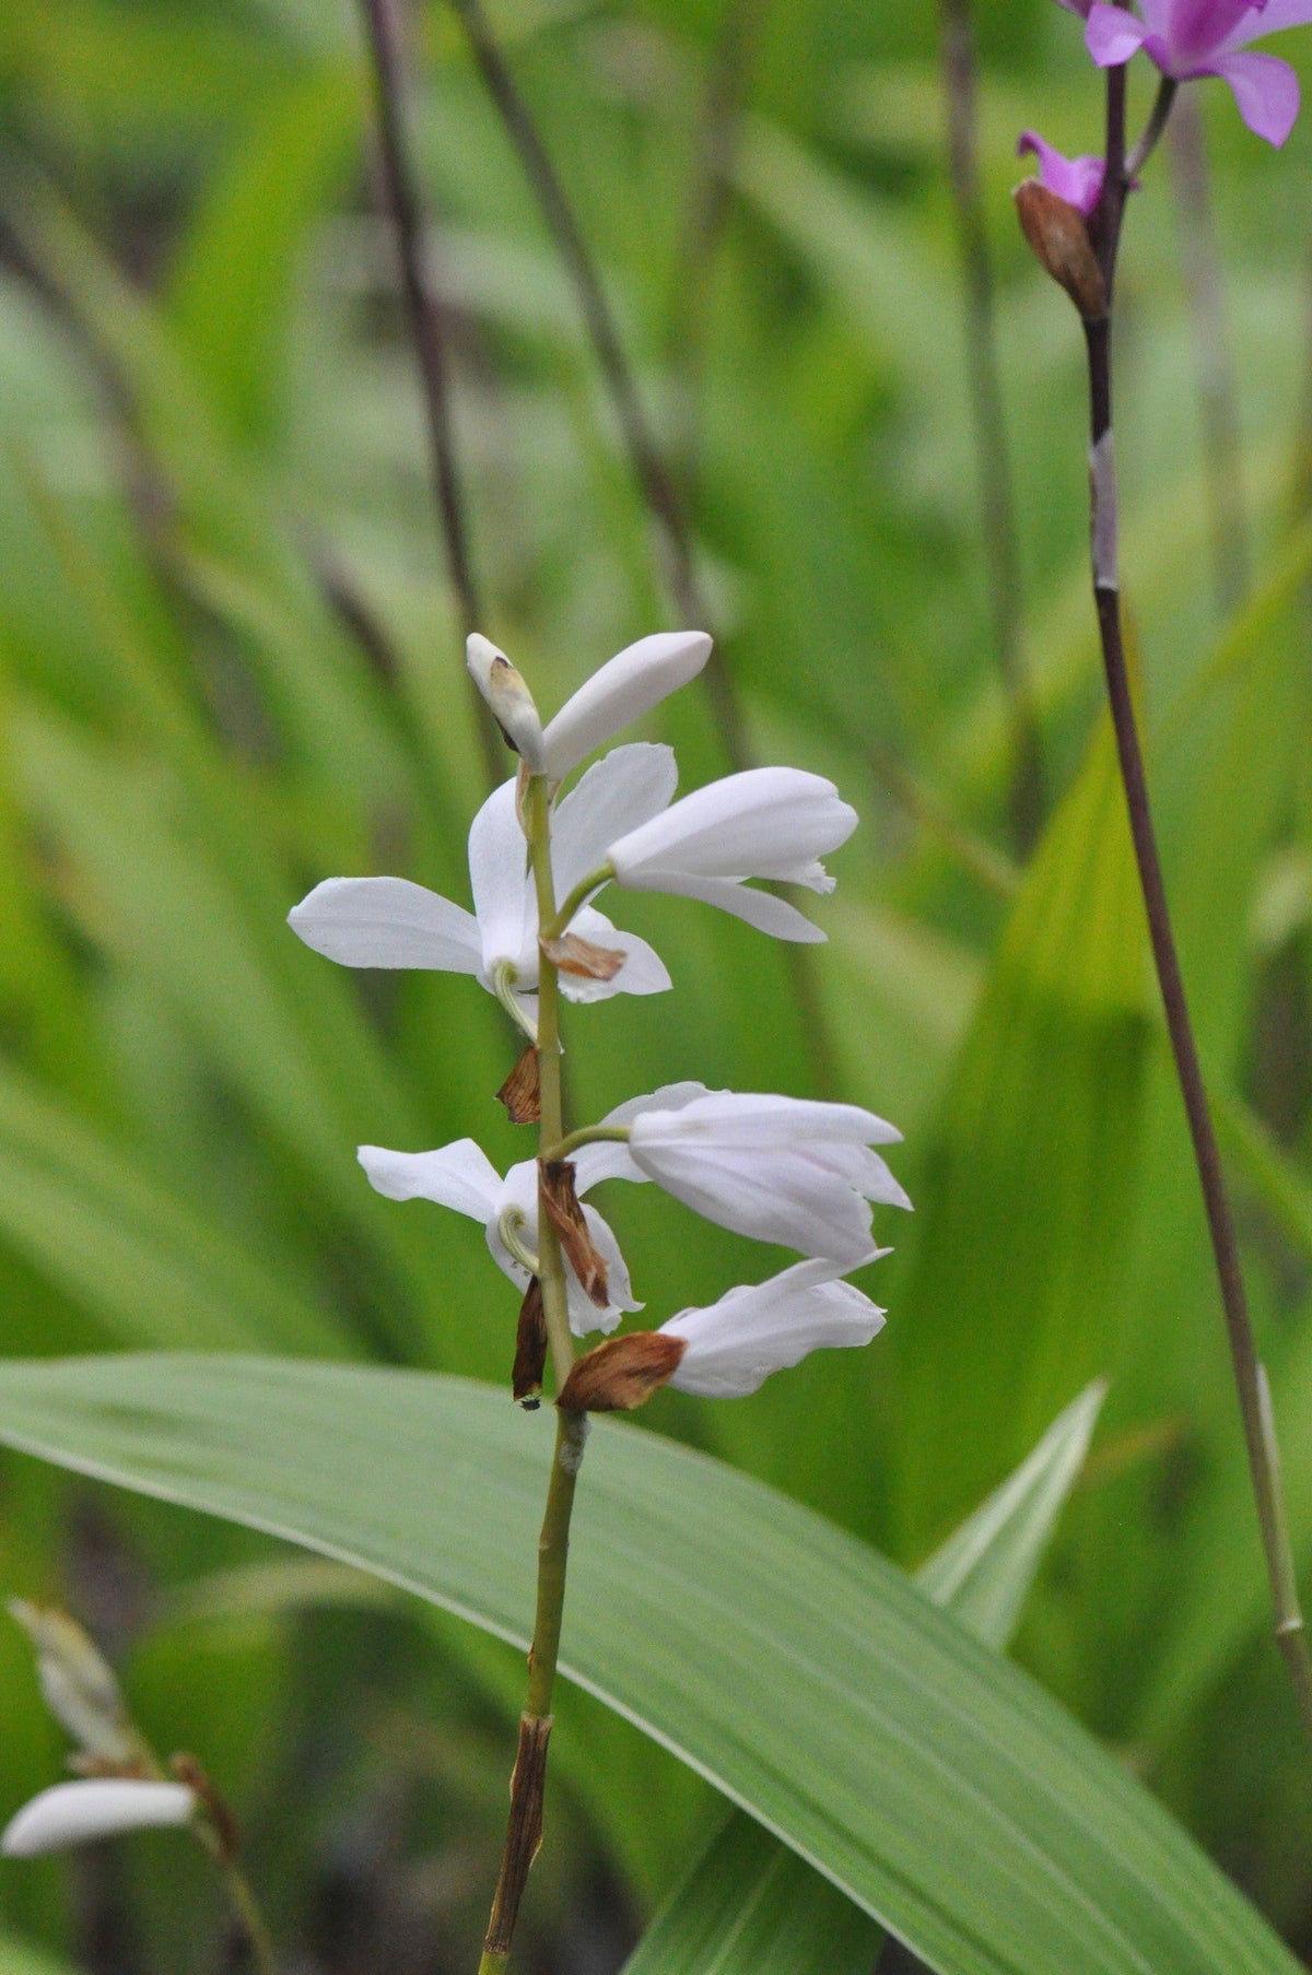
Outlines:
[[[1172, 91], [1174, 93], [1174, 91]], [[1148, 130], [1156, 136], [1170, 111], [1170, 93], [1158, 95], [1158, 107]], [[1148, 134], [1148, 132], [1146, 132]], [[1126, 164], [1124, 154], [1124, 69], [1108, 69], [1107, 75], [1107, 184], [1103, 201], [1091, 227], [1095, 247], [1103, 265], [1108, 298], [1114, 292], [1116, 253], [1120, 247], [1120, 221], [1124, 199], [1130, 190], [1130, 166], [1142, 166], [1150, 144], [1140, 140]], [[1116, 468], [1112, 452], [1112, 322], [1108, 314], [1085, 324], [1089, 346], [1089, 403], [1091, 403], [1091, 490], [1093, 490], [1093, 598], [1099, 616], [1099, 636], [1103, 644], [1103, 668], [1107, 673], [1107, 693], [1116, 731], [1116, 754], [1120, 778], [1130, 814], [1130, 833], [1138, 863], [1144, 907], [1148, 912], [1148, 934], [1152, 958], [1166, 1009], [1176, 1074], [1184, 1094], [1184, 1108], [1193, 1142], [1193, 1159], [1203, 1189], [1207, 1230], [1221, 1286], [1221, 1305], [1225, 1311], [1225, 1331], [1229, 1337], [1231, 1365], [1239, 1392], [1239, 1412], [1243, 1418], [1249, 1471], [1253, 1475], [1253, 1495], [1257, 1499], [1257, 1519], [1263, 1535], [1267, 1576], [1274, 1606], [1274, 1633], [1286, 1659], [1298, 1708], [1304, 1726], [1312, 1734], [1312, 1655], [1292, 1590], [1292, 1566], [1288, 1554], [1284, 1495], [1280, 1487], [1280, 1465], [1276, 1456], [1274, 1428], [1271, 1424], [1271, 1402], [1265, 1394], [1265, 1375], [1257, 1359], [1253, 1341], [1253, 1321], [1243, 1288], [1239, 1266], [1239, 1242], [1235, 1236], [1235, 1217], [1231, 1213], [1225, 1169], [1217, 1147], [1217, 1136], [1207, 1108], [1207, 1090], [1197, 1061], [1193, 1025], [1176, 952], [1162, 859], [1158, 855], [1156, 830], [1148, 804], [1148, 780], [1138, 739], [1130, 675], [1124, 658], [1124, 638], [1120, 628], [1120, 579], [1116, 569]]]

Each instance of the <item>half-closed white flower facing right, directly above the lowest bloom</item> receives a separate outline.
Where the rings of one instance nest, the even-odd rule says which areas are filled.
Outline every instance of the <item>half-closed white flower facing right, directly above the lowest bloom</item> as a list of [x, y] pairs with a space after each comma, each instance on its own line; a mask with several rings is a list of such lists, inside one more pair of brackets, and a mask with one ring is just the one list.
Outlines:
[[577, 1183], [654, 1179], [735, 1234], [828, 1256], [836, 1272], [869, 1256], [871, 1201], [911, 1207], [871, 1146], [901, 1132], [856, 1104], [668, 1084], [616, 1106], [622, 1142], [583, 1146]]

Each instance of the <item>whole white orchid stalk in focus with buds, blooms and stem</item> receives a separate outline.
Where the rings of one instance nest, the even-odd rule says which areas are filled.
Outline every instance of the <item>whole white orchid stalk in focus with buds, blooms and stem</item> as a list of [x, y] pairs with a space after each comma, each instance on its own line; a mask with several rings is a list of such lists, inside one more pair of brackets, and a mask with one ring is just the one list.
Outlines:
[[[288, 914], [308, 946], [346, 966], [472, 974], [532, 1039], [498, 1094], [516, 1122], [537, 1122], [537, 1159], [502, 1177], [468, 1138], [433, 1151], [360, 1147], [379, 1193], [482, 1224], [492, 1260], [524, 1298], [512, 1394], [535, 1410], [547, 1359], [555, 1384], [528, 1693], [480, 1975], [508, 1963], [541, 1837], [569, 1521], [589, 1414], [632, 1410], [662, 1384], [745, 1396], [810, 1351], [869, 1343], [883, 1311], [842, 1278], [887, 1252], [873, 1244], [875, 1205], [911, 1207], [873, 1149], [901, 1134], [854, 1104], [688, 1080], [628, 1098], [591, 1126], [569, 1128], [565, 1118], [563, 1001], [672, 986], [650, 946], [597, 910], [605, 887], [715, 905], [779, 940], [824, 940], [822, 926], [751, 883], [832, 891], [820, 859], [858, 818], [822, 776], [755, 768], [674, 802], [670, 749], [626, 743], [561, 794], [593, 749], [692, 679], [707, 652], [701, 632], [640, 638], [543, 723], [518, 668], [472, 636], [470, 675], [520, 756], [520, 774], [488, 798], [470, 830], [474, 912], [409, 879], [354, 877], [316, 885]], [[611, 1335], [644, 1305], [611, 1226], [585, 1205], [603, 1179], [656, 1183], [719, 1226], [792, 1246], [802, 1260], [656, 1329]], [[593, 1331], [603, 1341], [575, 1357], [575, 1337]]]

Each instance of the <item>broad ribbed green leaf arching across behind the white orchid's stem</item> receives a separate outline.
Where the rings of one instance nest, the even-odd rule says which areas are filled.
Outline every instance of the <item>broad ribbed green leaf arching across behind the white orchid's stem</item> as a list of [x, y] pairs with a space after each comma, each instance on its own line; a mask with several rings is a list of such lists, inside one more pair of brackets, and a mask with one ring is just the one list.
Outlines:
[[[456, 1379], [235, 1357], [0, 1367], [0, 1440], [358, 1562], [524, 1643], [551, 1422]], [[561, 1669], [944, 1975], [1292, 1975], [1039, 1687], [798, 1503], [599, 1426]]]

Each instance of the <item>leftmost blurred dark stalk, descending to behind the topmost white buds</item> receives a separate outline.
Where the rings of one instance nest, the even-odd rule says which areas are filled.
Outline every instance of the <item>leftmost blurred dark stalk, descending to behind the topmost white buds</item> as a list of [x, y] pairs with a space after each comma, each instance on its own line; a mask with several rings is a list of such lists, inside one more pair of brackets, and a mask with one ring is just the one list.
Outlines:
[[[423, 407], [429, 427], [429, 450], [433, 456], [433, 492], [443, 521], [443, 545], [447, 551], [447, 577], [460, 614], [460, 634], [462, 638], [468, 638], [472, 630], [482, 628], [484, 618], [474, 579], [466, 502], [451, 417], [451, 350], [447, 316], [439, 296], [429, 284], [427, 257], [431, 255], [431, 239], [425, 249], [419, 186], [409, 146], [405, 113], [407, 79], [405, 57], [401, 51], [399, 0], [360, 0], [360, 6], [373, 67], [381, 190], [397, 243], [405, 310], [415, 344], [415, 357], [419, 361], [419, 381], [423, 385]], [[478, 721], [478, 741], [482, 747], [488, 784], [496, 786], [506, 776], [506, 750], [500, 735], [496, 733], [492, 715], [480, 695], [472, 689], [472, 681], [470, 693]]]

